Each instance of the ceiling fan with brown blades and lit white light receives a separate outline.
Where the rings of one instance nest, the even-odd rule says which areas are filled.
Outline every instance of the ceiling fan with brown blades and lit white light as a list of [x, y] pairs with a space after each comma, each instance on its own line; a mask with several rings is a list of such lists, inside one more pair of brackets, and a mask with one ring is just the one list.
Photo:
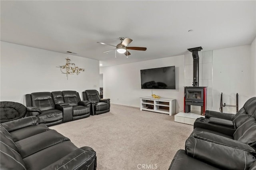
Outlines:
[[124, 55], [126, 55], [126, 56], [131, 55], [131, 53], [127, 49], [140, 50], [140, 51], [146, 51], [146, 49], [147, 49], [146, 47], [127, 47], [127, 45], [129, 45], [132, 42], [132, 39], [130, 39], [130, 38], [120, 37], [119, 40], [121, 42], [117, 45], [111, 45], [111, 44], [102, 43], [102, 42], [97, 42], [97, 43], [116, 47], [115, 49], [110, 49], [108, 51], [104, 51], [103, 53], [108, 53], [109, 51], [116, 50], [118, 53], [124, 53]]

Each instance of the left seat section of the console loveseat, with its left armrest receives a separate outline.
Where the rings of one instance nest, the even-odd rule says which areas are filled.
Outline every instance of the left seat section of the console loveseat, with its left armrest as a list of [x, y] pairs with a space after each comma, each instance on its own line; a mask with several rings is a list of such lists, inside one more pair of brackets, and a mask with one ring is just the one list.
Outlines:
[[47, 126], [63, 122], [63, 110], [57, 109], [50, 92], [26, 94], [27, 116], [37, 116]]

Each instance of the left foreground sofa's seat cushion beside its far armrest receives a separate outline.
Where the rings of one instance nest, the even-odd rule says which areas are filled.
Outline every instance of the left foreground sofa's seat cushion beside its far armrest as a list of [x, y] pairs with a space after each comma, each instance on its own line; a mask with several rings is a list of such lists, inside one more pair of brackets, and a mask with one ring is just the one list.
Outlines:
[[50, 130], [45, 124], [30, 126], [10, 132], [14, 142]]

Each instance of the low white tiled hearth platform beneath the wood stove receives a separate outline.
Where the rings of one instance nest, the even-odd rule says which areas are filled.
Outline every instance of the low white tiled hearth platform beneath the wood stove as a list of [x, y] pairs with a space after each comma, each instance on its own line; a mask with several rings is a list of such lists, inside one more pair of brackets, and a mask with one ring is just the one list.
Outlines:
[[194, 125], [194, 122], [198, 117], [204, 117], [200, 115], [199, 111], [191, 111], [190, 113], [180, 112], [174, 115], [174, 121], [179, 123], [185, 123], [188, 125]]

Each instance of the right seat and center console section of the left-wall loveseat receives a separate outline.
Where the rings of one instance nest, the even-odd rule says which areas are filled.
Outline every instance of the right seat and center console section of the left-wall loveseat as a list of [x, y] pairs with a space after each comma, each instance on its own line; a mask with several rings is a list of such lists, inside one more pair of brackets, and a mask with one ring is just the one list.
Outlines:
[[72, 106], [71, 111], [63, 115], [63, 122], [74, 121], [90, 116], [91, 102], [81, 101], [77, 91], [53, 91], [55, 104]]

